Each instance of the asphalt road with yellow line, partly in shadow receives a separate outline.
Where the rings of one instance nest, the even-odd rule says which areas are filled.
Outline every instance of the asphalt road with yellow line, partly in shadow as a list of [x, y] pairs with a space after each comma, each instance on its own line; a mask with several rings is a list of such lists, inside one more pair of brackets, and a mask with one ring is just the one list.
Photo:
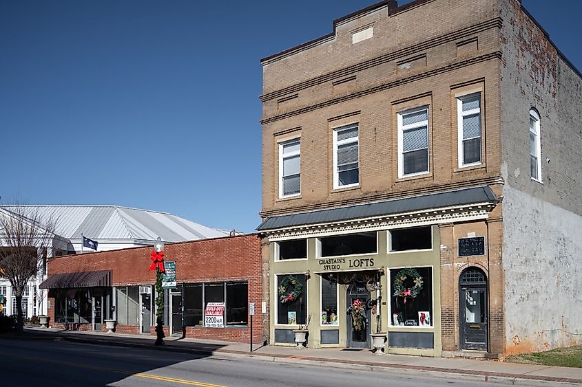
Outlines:
[[0, 346], [1, 386], [491, 386], [422, 374], [205, 357], [48, 338], [0, 338]]

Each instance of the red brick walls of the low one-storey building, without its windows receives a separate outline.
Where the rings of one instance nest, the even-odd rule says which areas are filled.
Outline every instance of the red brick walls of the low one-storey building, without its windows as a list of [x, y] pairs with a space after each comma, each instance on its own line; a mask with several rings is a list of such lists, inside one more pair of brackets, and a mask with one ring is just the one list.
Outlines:
[[[217, 239], [205, 239], [183, 243], [167, 244], [164, 248], [165, 260], [176, 262], [176, 283], [220, 284], [247, 283], [248, 302], [256, 305], [256, 316], [253, 318], [253, 342], [262, 342], [262, 318], [260, 315], [262, 294], [262, 272], [260, 239], [256, 234], [230, 236]], [[57, 274], [87, 273], [110, 271], [110, 287], [136, 287], [154, 285], [155, 272], [150, 272], [152, 263], [149, 254], [152, 247], [137, 247], [110, 252], [79, 254], [52, 258], [48, 263], [48, 281]], [[107, 285], [105, 285], [107, 286]], [[114, 297], [114, 296], [112, 296]], [[50, 324], [55, 328], [71, 328], [92, 330], [92, 324], [66, 325], [55, 322], [56, 304], [54, 298], [49, 298]], [[246, 305], [245, 305], [246, 307]], [[152, 311], [155, 314], [155, 311]], [[247, 311], [247, 325], [226, 328], [209, 328], [188, 326], [184, 328], [187, 338], [203, 338], [208, 340], [225, 340], [248, 342], [250, 334], [250, 316]], [[165, 321], [167, 324], [168, 322]], [[103, 324], [102, 330], [105, 330]], [[154, 327], [152, 327], [152, 332]], [[168, 329], [165, 329], [168, 334]], [[117, 324], [116, 332], [139, 333], [136, 324]]]

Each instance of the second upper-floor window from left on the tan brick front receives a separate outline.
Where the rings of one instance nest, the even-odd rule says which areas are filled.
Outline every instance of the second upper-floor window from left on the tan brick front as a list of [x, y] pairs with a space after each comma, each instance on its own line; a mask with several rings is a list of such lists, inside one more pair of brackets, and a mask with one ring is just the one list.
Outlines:
[[357, 186], [359, 164], [357, 124], [333, 131], [333, 188]]

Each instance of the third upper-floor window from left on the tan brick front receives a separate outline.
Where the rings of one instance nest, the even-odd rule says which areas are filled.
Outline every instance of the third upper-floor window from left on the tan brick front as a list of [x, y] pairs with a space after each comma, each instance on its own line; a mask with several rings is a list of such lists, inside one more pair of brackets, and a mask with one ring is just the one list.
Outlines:
[[428, 107], [398, 113], [398, 176], [428, 173]]

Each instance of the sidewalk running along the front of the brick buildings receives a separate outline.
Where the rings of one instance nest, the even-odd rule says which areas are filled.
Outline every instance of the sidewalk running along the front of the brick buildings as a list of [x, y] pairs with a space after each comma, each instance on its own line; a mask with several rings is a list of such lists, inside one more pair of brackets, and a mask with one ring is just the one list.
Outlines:
[[480, 382], [520, 384], [526, 386], [582, 386], [582, 368], [565, 368], [532, 364], [513, 364], [492, 360], [451, 359], [407, 355], [373, 355], [371, 351], [345, 349], [302, 349], [289, 346], [253, 346], [215, 340], [165, 338], [165, 346], [154, 346], [150, 335], [107, 334], [101, 332], [61, 331], [60, 329], [26, 328], [26, 332], [43, 338], [62, 338], [88, 344], [147, 347], [162, 351], [180, 351], [204, 355], [256, 357], [270, 362], [292, 362], [337, 368], [360, 368], [380, 372], [397, 372], [434, 377], [470, 379]]

